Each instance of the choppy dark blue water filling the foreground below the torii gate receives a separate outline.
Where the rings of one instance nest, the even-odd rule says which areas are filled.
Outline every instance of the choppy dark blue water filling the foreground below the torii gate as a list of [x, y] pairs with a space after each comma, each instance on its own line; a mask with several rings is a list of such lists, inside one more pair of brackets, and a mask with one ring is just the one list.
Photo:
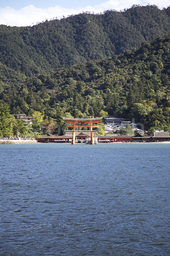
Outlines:
[[1, 256], [170, 255], [170, 145], [0, 145]]

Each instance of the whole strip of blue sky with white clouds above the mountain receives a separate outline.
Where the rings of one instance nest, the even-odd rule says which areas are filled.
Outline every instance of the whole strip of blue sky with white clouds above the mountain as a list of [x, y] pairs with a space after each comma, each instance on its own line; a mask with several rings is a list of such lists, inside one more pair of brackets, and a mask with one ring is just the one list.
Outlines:
[[133, 4], [145, 6], [148, 3], [160, 9], [170, 6], [170, 0], [0, 0], [0, 24], [33, 26], [46, 19], [60, 19], [80, 12], [120, 11]]

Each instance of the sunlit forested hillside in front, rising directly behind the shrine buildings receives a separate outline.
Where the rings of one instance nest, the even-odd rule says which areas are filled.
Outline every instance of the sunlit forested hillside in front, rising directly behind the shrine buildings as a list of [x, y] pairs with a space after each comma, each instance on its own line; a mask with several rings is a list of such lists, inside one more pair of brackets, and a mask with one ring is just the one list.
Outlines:
[[[4, 67], [1, 64], [1, 71]], [[61, 122], [62, 116], [108, 113], [135, 118], [146, 129], [170, 129], [170, 35], [113, 58], [62, 67], [50, 74], [26, 78], [4, 69], [1, 79], [0, 102], [8, 103], [12, 114], [40, 111]]]

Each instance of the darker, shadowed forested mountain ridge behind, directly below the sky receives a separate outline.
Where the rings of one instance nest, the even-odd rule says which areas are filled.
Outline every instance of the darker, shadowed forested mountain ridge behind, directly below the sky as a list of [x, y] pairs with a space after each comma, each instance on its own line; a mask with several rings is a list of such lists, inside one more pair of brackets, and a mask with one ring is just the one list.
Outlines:
[[113, 58], [170, 33], [170, 7], [132, 6], [123, 12], [82, 13], [36, 26], [0, 25], [0, 62], [26, 76]]

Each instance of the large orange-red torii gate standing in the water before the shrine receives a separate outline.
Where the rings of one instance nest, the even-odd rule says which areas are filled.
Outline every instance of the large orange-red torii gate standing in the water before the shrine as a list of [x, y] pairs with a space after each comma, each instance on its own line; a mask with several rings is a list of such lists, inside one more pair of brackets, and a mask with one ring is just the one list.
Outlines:
[[[96, 118], [85, 118], [85, 119], [79, 119], [79, 118], [67, 118], [67, 117], [62, 117], [63, 120], [65, 120], [67, 123], [71, 123], [71, 125], [67, 125], [67, 127], [71, 127], [73, 128], [72, 131], [72, 142], [71, 144], [75, 145], [75, 139], [76, 139], [76, 132], [75, 132], [75, 128], [76, 127], [86, 127], [86, 128], [90, 128], [91, 131], [91, 144], [93, 144], [93, 130], [92, 128], [94, 127], [99, 127], [99, 125], [93, 125], [94, 123], [98, 123], [99, 121], [102, 120], [102, 117], [96, 117]], [[76, 125], [76, 123], [81, 123], [81, 125]], [[90, 125], [83, 125], [84, 123], [90, 123]]]

